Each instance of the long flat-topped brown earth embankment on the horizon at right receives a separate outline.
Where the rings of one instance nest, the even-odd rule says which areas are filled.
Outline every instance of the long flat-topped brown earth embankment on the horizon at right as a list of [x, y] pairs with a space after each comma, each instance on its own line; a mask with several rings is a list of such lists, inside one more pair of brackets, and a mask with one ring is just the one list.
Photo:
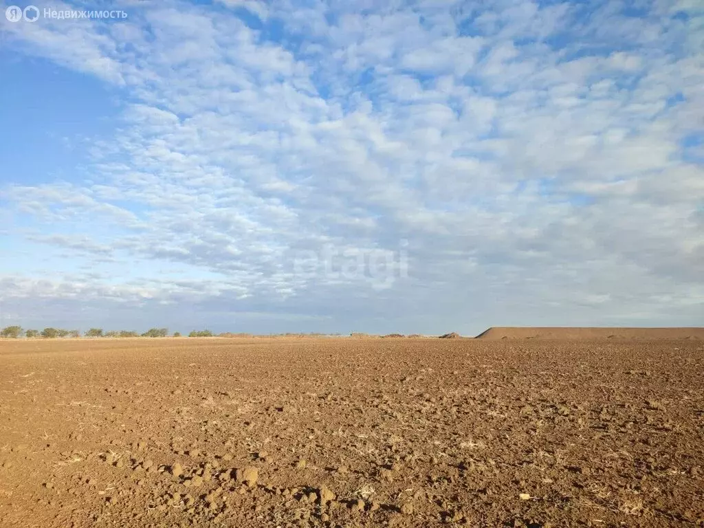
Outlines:
[[704, 328], [491, 327], [476, 339], [704, 339]]

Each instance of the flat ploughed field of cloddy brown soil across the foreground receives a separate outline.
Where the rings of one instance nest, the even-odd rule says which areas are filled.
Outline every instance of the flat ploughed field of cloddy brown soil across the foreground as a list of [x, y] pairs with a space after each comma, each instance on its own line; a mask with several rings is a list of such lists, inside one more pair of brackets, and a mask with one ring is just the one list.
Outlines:
[[696, 340], [0, 341], [0, 526], [704, 526]]

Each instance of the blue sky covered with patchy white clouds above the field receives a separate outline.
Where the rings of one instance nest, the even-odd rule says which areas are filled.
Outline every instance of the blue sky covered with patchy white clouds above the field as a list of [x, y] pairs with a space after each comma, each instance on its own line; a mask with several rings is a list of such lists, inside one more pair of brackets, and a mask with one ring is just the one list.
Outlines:
[[704, 323], [698, 0], [11, 5], [0, 327]]

